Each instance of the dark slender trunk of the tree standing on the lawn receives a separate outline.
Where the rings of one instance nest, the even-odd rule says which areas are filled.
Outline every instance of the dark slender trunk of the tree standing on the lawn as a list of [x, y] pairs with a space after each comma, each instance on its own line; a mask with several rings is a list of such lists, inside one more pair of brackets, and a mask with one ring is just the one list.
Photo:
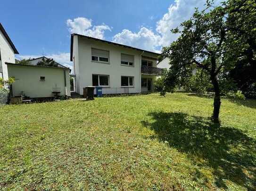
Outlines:
[[220, 108], [221, 108], [221, 95], [220, 95], [220, 87], [219, 83], [217, 80], [217, 74], [215, 73], [216, 71], [216, 59], [215, 55], [211, 56], [211, 64], [212, 64], [212, 69], [211, 69], [211, 80], [212, 84], [214, 86], [214, 111], [212, 115], [212, 121], [215, 123], [219, 123], [219, 114], [220, 114]]

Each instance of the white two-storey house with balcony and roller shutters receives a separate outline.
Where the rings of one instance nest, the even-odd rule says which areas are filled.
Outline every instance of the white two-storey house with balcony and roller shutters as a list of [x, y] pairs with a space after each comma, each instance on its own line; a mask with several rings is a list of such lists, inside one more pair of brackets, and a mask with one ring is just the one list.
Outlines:
[[71, 35], [75, 92], [101, 86], [103, 94], [154, 91], [159, 54], [79, 34]]

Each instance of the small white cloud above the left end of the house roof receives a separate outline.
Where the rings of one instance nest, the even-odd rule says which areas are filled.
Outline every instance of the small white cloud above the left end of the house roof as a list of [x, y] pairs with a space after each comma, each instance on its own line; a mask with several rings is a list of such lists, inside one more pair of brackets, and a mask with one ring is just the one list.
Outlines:
[[92, 20], [84, 17], [77, 17], [74, 20], [68, 19], [66, 25], [70, 33], [82, 34], [94, 38], [104, 39], [104, 32], [111, 31], [105, 23], [102, 25], [92, 26]]

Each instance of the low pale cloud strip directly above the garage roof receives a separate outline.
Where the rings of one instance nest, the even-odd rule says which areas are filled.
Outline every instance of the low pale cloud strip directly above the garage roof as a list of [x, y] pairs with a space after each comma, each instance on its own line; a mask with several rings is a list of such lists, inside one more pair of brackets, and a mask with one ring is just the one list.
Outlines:
[[[38, 58], [43, 55], [17, 55], [17, 59], [33, 59]], [[46, 54], [44, 55], [47, 58], [52, 58], [54, 61], [58, 62], [59, 64], [62, 64], [70, 69], [73, 69], [73, 64], [70, 61], [70, 53], [57, 53], [57, 54]]]

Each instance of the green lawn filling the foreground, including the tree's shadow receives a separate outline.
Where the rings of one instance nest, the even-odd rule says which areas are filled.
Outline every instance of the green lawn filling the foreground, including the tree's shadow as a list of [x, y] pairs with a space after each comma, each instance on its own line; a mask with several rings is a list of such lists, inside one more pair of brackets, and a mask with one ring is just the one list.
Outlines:
[[256, 100], [173, 93], [0, 107], [0, 190], [256, 190]]

